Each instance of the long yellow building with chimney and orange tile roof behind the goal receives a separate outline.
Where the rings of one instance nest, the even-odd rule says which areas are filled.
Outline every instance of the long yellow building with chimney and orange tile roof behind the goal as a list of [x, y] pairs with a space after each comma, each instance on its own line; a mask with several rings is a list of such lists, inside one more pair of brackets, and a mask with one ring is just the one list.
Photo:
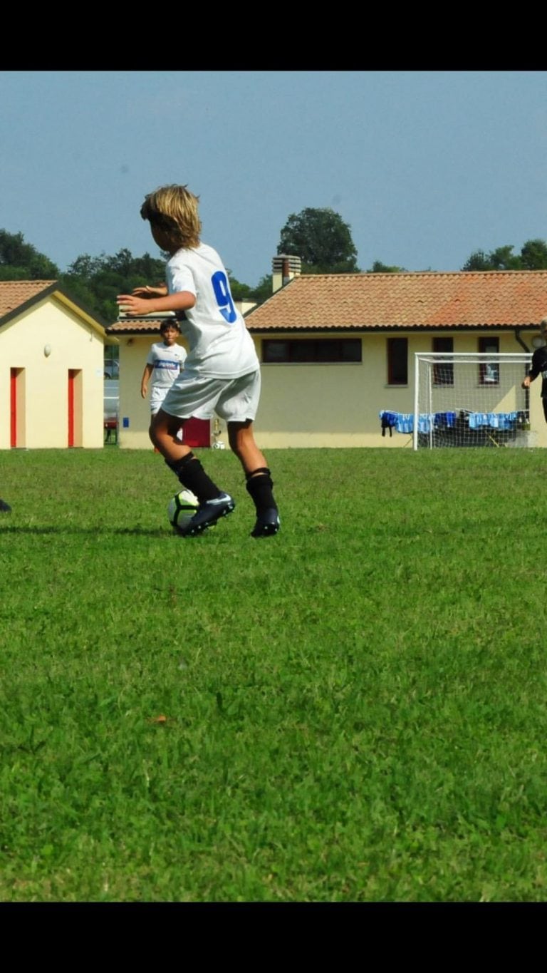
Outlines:
[[[530, 354], [547, 315], [547, 270], [312, 275], [281, 255], [273, 271], [274, 293], [245, 313], [262, 366], [264, 450], [406, 446], [408, 437], [382, 436], [379, 413], [413, 411], [416, 352]], [[158, 330], [157, 321], [129, 319], [108, 329], [120, 336], [120, 371], [125, 336], [134, 344]], [[530, 389], [530, 423], [547, 446], [539, 386]], [[496, 389], [488, 401], [483, 391], [494, 409]], [[135, 399], [125, 401], [135, 412]]]

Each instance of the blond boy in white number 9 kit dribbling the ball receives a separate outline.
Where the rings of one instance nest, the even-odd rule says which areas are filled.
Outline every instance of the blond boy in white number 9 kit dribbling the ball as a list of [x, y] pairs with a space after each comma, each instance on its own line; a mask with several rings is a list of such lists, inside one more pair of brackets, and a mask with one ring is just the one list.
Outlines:
[[211, 418], [216, 412], [226, 422], [230, 449], [243, 466], [255, 503], [252, 536], [267, 537], [278, 532], [280, 520], [270, 471], [253, 432], [259, 363], [254, 342], [233, 304], [222, 260], [216, 250], [200, 242], [197, 205], [198, 198], [186, 186], [163, 186], [145, 198], [141, 216], [150, 221], [157, 246], [171, 255], [166, 268], [168, 295], [147, 295], [141, 287], [131, 295], [120, 294], [118, 302], [136, 317], [162, 310], [184, 312], [182, 331], [189, 345], [185, 367], [150, 429], [167, 465], [199, 500], [197, 512], [180, 532], [201, 533], [235, 507], [233, 498], [213, 483], [189, 447], [177, 441], [186, 419]]

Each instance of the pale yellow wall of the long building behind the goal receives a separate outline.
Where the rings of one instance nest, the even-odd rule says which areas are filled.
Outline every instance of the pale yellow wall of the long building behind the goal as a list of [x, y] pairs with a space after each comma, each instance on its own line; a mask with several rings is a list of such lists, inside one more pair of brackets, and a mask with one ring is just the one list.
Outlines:
[[[379, 412], [414, 411], [414, 353], [430, 351], [432, 339], [446, 337], [446, 331], [346, 333], [346, 338], [362, 341], [362, 361], [343, 364], [280, 364], [261, 366], [262, 392], [256, 416], [256, 442], [264, 450], [310, 447], [380, 447], [383, 449], [411, 448], [411, 436], [389, 433], [382, 436]], [[523, 353], [524, 348], [513, 334], [483, 332], [483, 336], [499, 339], [499, 351]], [[254, 337], [261, 360], [262, 337]], [[274, 336], [271, 336], [274, 337]], [[291, 339], [295, 335], [276, 334], [275, 338]], [[301, 340], [306, 336], [298, 334]], [[315, 336], [310, 336], [313, 338]], [[388, 384], [387, 339], [408, 339], [408, 384]], [[454, 350], [477, 352], [477, 332], [453, 334]], [[151, 449], [148, 435], [150, 405], [140, 395], [141, 378], [151, 344], [158, 336], [120, 338], [120, 447]], [[183, 338], [179, 343], [187, 347]], [[457, 373], [456, 373], [457, 374]], [[524, 378], [524, 369], [523, 369]], [[547, 446], [547, 424], [540, 400], [540, 378], [530, 389], [530, 427], [533, 445]], [[478, 386], [481, 395], [491, 394], [492, 409], [480, 411], [512, 411], [508, 398], [494, 401], [496, 392]], [[472, 407], [467, 407], [472, 408]], [[123, 428], [123, 418], [128, 428]], [[227, 443], [224, 423], [222, 440]]]

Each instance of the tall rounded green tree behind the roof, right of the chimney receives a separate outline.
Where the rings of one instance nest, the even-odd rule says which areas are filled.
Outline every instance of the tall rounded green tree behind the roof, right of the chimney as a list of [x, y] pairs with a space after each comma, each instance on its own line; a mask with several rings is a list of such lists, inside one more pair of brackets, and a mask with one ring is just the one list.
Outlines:
[[333, 209], [291, 213], [277, 252], [300, 257], [304, 273], [359, 273], [351, 228]]

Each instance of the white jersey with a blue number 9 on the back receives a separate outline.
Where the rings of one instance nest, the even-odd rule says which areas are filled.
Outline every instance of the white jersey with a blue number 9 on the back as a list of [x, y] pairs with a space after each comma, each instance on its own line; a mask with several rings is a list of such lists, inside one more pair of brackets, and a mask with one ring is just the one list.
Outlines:
[[189, 291], [195, 305], [185, 311], [181, 331], [188, 339], [185, 372], [238, 378], [259, 368], [255, 344], [233, 304], [222, 260], [207, 243], [177, 250], [167, 263], [169, 294]]

